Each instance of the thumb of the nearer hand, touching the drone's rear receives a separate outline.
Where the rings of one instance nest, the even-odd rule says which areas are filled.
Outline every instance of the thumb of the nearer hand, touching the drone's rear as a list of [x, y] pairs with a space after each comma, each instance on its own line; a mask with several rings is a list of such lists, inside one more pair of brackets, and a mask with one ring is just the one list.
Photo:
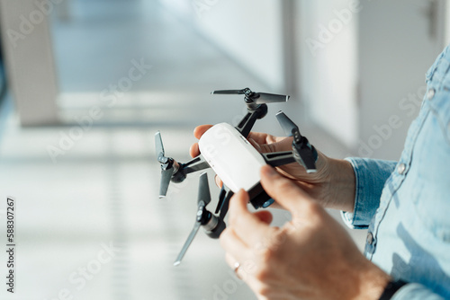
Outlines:
[[293, 181], [281, 176], [268, 164], [261, 168], [261, 184], [267, 194], [291, 211], [293, 216], [311, 216], [318, 213], [317, 208], [321, 208]]

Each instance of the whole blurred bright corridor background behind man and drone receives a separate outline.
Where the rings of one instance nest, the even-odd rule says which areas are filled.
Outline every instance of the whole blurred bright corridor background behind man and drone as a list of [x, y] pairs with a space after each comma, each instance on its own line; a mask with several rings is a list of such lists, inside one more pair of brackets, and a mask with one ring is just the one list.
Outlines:
[[[242, 97], [211, 91], [249, 87], [291, 95], [254, 130], [283, 135], [284, 110], [329, 156], [395, 160], [449, 40], [448, 7], [0, 0], [0, 245], [7, 197], [17, 244], [15, 293], [2, 284], [0, 298], [255, 299], [202, 232], [173, 267], [198, 174], [158, 199], [154, 134], [185, 162], [195, 126], [246, 113]], [[349, 233], [363, 250], [365, 232]], [[6, 261], [0, 251], [0, 274]]]

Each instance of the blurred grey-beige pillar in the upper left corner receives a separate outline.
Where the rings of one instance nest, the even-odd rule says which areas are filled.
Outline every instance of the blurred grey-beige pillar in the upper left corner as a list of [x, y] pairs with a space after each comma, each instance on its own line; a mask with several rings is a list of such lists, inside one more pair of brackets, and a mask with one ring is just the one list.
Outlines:
[[31, 0], [0, 0], [0, 21], [8, 84], [21, 124], [58, 123], [49, 12], [42, 12]]

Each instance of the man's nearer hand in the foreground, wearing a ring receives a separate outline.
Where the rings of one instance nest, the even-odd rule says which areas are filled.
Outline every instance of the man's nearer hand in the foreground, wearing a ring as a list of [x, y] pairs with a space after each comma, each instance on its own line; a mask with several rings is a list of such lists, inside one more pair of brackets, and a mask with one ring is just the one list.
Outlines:
[[239, 191], [220, 235], [231, 268], [258, 299], [378, 299], [390, 277], [358, 251], [346, 230], [317, 201], [270, 166], [261, 170], [266, 192], [293, 219], [269, 226], [268, 211], [247, 210]]

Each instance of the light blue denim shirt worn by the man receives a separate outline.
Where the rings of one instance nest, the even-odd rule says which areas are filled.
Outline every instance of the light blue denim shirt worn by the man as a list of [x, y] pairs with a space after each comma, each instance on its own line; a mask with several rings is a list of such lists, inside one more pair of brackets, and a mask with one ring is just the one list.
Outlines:
[[356, 201], [354, 212], [342, 216], [352, 228], [368, 228], [367, 259], [410, 283], [395, 300], [450, 299], [449, 71], [447, 47], [428, 70], [399, 162], [347, 158]]

